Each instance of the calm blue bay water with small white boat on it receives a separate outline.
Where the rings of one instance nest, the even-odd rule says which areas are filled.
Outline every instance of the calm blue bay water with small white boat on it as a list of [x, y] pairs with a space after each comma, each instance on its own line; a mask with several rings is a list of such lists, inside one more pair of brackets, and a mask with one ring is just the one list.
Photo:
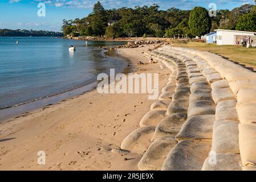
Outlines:
[[120, 44], [126, 42], [0, 37], [0, 109], [89, 85], [110, 68], [123, 71], [126, 60], [90, 48]]

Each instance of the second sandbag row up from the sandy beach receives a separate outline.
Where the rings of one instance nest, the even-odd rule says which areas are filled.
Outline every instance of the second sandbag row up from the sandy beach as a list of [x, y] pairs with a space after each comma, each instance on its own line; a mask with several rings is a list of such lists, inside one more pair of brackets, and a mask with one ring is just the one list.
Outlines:
[[[170, 75], [169, 82], [162, 88], [162, 94], [159, 96], [160, 101], [155, 103], [162, 102], [166, 99], [166, 96], [169, 96], [171, 100], [166, 111], [166, 117], [156, 126], [155, 134], [152, 137], [153, 143], [138, 164], [141, 170], [162, 169], [166, 156], [172, 147], [177, 144], [175, 136], [186, 121], [190, 94], [189, 84], [186, 83], [188, 75], [184, 73], [185, 65], [180, 60], [155, 51], [151, 52], [151, 57], [159, 61], [160, 66], [161, 63], [165, 64], [175, 74]], [[151, 110], [154, 109], [155, 104], [151, 106]]]

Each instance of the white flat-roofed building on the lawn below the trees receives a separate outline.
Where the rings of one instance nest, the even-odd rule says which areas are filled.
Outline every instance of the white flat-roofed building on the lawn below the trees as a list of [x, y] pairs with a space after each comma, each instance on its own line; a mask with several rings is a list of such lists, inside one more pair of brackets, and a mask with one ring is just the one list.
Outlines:
[[[246, 32], [237, 30], [214, 30], [217, 32], [217, 45], [235, 45], [241, 36], [255, 36], [256, 32]], [[240, 40], [238, 40], [240, 41]]]

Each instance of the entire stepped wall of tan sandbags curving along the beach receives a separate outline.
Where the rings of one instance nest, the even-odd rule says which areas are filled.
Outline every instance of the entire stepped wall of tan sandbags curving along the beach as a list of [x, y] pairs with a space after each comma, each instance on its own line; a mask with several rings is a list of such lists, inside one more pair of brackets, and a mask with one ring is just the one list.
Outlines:
[[170, 69], [159, 100], [121, 148], [141, 151], [141, 170], [254, 170], [256, 74], [210, 52], [162, 46], [145, 52]]

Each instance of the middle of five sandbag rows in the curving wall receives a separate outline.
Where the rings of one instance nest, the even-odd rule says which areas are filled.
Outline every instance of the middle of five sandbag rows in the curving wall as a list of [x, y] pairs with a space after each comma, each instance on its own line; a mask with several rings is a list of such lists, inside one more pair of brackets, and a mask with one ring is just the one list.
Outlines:
[[176, 135], [178, 144], [170, 150], [162, 169], [164, 170], [201, 170], [205, 158], [210, 151], [213, 123], [215, 120], [215, 104], [212, 100], [211, 89], [190, 57], [181, 55], [174, 50], [166, 50], [184, 62], [188, 73], [190, 97], [188, 119]]

